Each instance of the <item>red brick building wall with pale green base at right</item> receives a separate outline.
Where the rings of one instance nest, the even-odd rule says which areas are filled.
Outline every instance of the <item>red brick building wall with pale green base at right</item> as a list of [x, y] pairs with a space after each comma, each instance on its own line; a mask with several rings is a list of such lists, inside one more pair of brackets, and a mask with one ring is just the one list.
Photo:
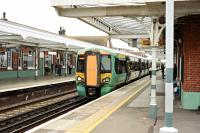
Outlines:
[[175, 64], [184, 109], [200, 107], [200, 15], [185, 16], [175, 25]]

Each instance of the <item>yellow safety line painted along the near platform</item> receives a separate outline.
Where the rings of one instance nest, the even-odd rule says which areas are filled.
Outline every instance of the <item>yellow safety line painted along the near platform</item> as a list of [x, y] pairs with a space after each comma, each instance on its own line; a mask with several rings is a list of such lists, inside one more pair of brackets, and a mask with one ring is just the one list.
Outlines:
[[140, 89], [138, 89], [136, 92], [131, 94], [128, 98], [126, 98], [124, 101], [122, 101], [120, 104], [118, 104], [115, 108], [113, 108], [110, 112], [108, 112], [106, 115], [101, 117], [99, 120], [94, 122], [93, 125], [91, 125], [89, 128], [83, 131], [83, 133], [89, 133], [92, 131], [96, 126], [98, 126], [102, 121], [104, 121], [106, 118], [108, 118], [113, 112], [115, 112], [117, 109], [119, 109], [123, 104], [125, 104], [128, 100], [130, 100], [134, 95], [136, 95], [139, 91], [141, 91], [145, 86], [147, 86], [149, 82], [144, 84]]

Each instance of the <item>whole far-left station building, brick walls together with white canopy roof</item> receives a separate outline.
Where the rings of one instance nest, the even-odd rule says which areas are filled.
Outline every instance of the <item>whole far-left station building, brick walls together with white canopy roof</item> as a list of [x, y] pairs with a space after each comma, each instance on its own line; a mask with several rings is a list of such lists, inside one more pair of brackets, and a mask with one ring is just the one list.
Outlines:
[[[73, 74], [76, 53], [93, 46], [48, 31], [0, 20], [0, 79]], [[71, 69], [71, 70], [69, 70]]]

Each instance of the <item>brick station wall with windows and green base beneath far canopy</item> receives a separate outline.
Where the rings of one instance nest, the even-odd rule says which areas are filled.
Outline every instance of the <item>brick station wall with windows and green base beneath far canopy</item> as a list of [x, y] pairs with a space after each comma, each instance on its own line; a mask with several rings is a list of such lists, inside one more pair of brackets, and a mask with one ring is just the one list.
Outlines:
[[68, 64], [75, 66], [75, 55], [73, 52], [69, 53], [68, 58], [66, 58], [66, 52], [63, 50], [38, 48], [39, 53], [36, 56], [36, 47], [34, 46], [7, 47], [4, 44], [1, 45], [0, 79], [34, 77], [36, 60], [38, 60], [38, 76], [56, 75], [56, 64], [62, 66], [62, 75], [64, 75], [66, 61], [68, 61]]

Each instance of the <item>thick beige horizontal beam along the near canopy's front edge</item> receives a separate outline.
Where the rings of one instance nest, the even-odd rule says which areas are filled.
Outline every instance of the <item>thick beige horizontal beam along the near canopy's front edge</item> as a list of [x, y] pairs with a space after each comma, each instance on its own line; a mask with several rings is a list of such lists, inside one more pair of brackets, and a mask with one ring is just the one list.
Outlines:
[[[184, 16], [200, 13], [199, 2], [180, 2], [175, 5], [175, 15]], [[60, 16], [65, 17], [106, 17], [106, 16], [161, 16], [165, 14], [165, 5], [150, 4], [144, 6], [114, 6], [114, 7], [85, 7], [58, 8]]]

